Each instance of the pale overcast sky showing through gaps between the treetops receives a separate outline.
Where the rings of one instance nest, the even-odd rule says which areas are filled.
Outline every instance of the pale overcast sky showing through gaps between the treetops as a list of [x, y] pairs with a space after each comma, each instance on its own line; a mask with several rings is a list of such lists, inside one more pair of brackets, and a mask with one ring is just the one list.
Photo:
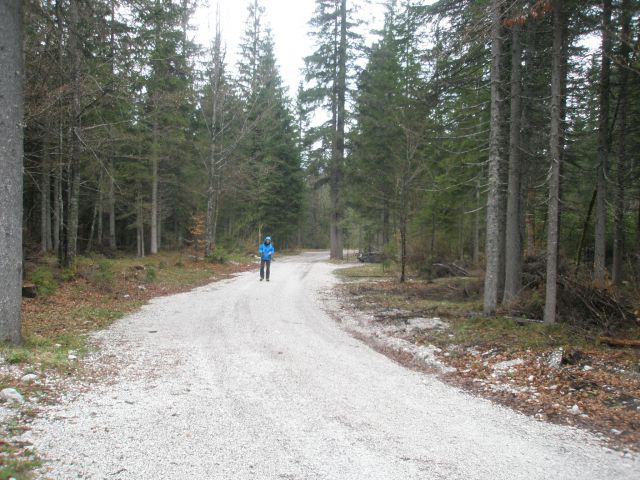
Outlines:
[[[211, 45], [216, 15], [216, 0], [208, 1], [209, 6], [200, 7], [194, 18], [194, 26], [197, 28], [195, 40], [206, 47]], [[222, 37], [227, 46], [227, 65], [233, 70], [250, 1], [252, 0], [219, 0]], [[315, 10], [315, 0], [262, 0], [261, 4], [265, 7], [266, 22], [273, 31], [280, 74], [289, 87], [289, 94], [295, 95], [298, 83], [302, 80], [304, 57], [313, 52], [313, 44], [307, 31], [309, 19]], [[376, 25], [382, 22], [383, 8], [374, 5], [361, 14]]]

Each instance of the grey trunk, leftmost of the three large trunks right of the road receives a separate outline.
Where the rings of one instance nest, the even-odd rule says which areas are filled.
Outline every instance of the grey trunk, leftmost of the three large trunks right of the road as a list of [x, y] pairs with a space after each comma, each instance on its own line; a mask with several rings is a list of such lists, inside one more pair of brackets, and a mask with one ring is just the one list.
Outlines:
[[489, 133], [489, 194], [487, 198], [487, 240], [484, 281], [484, 314], [493, 315], [498, 305], [500, 277], [502, 98], [500, 92], [502, 56], [502, 1], [491, 2], [491, 131]]

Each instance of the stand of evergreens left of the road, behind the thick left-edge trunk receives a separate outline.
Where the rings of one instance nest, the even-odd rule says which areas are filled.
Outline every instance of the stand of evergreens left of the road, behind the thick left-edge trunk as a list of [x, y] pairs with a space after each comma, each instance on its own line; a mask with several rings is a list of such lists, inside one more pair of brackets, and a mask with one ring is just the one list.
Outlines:
[[[257, 0], [238, 64], [193, 43], [193, 0], [26, 2], [28, 245], [142, 256], [192, 240], [299, 239], [303, 172], [293, 103]], [[219, 25], [219, 19], [218, 19]], [[227, 245], [227, 246], [229, 246]]]

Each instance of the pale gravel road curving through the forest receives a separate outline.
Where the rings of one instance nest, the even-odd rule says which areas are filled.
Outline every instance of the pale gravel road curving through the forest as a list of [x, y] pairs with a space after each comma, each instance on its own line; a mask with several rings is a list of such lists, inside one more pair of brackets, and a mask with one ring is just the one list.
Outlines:
[[153, 300], [98, 334], [118, 373], [27, 439], [55, 479], [637, 479], [640, 459], [407, 370], [323, 309], [326, 255]]

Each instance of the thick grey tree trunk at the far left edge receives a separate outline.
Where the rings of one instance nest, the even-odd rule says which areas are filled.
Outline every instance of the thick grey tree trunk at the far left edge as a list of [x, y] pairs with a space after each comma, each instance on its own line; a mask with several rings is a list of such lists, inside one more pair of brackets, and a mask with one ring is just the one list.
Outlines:
[[22, 303], [22, 1], [0, 3], [0, 342], [20, 343]]

